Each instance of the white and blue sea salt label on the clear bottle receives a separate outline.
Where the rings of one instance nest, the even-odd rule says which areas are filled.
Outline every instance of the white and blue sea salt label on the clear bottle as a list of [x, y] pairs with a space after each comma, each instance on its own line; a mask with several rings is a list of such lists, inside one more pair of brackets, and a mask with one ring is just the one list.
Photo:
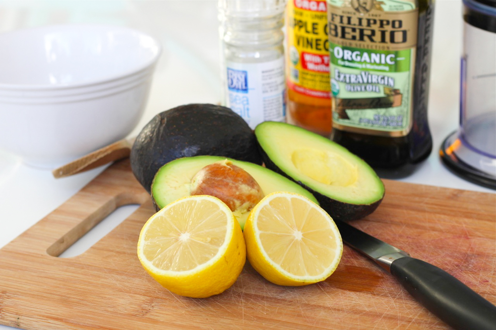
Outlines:
[[262, 121], [285, 121], [284, 57], [261, 63], [226, 61], [227, 107], [254, 129]]

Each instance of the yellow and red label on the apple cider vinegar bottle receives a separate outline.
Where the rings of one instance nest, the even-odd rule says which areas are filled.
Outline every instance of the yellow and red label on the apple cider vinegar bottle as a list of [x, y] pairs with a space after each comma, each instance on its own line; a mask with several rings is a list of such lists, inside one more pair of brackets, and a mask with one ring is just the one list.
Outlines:
[[290, 0], [287, 10], [288, 88], [330, 99], [327, 4], [325, 0]]

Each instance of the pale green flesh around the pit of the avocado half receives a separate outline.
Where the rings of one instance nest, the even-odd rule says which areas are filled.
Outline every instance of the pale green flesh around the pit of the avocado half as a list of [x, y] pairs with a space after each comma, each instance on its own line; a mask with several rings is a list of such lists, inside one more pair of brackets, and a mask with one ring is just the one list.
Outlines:
[[[313, 197], [308, 190], [260, 165], [236, 161], [225, 157], [195, 156], [174, 160], [163, 165], [158, 170], [151, 186], [151, 195], [155, 208], [160, 210], [167, 204], [174, 202], [179, 198], [189, 196], [190, 183], [193, 176], [206, 165], [226, 159], [231, 161], [233, 165], [239, 166], [247, 171], [258, 183], [264, 196], [275, 191], [289, 191], [303, 195], [318, 204], [315, 197]], [[248, 214], [249, 212], [245, 214], [235, 213], [242, 229], [245, 227]]]

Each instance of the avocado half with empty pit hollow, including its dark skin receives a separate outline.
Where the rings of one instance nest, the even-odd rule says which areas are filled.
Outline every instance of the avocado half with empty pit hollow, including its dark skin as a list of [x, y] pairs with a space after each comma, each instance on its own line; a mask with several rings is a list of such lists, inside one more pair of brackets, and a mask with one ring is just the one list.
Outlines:
[[265, 166], [308, 189], [334, 220], [363, 218], [384, 197], [372, 167], [325, 137], [271, 121], [257, 125], [255, 136]]

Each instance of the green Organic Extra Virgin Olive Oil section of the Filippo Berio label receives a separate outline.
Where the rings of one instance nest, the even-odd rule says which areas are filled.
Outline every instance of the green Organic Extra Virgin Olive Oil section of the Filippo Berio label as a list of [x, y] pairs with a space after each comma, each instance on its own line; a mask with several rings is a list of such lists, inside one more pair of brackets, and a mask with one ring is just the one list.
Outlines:
[[331, 49], [333, 120], [381, 131], [407, 130], [412, 51], [372, 52], [333, 43]]

